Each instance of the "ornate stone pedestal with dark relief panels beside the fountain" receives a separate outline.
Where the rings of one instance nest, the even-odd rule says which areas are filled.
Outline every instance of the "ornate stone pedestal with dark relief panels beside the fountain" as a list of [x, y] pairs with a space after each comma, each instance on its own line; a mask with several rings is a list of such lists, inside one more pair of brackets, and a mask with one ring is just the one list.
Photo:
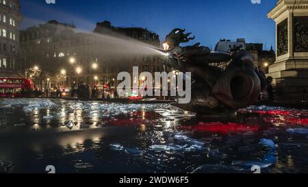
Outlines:
[[308, 92], [308, 0], [279, 0], [268, 18], [276, 22], [277, 59], [267, 75], [275, 100], [301, 102]]

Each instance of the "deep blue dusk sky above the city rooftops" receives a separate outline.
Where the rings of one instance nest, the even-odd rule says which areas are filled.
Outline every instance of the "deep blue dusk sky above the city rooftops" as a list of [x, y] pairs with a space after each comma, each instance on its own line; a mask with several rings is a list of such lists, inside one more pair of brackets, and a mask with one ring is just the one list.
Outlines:
[[266, 14], [277, 0], [21, 0], [21, 28], [55, 19], [75, 23], [92, 32], [97, 22], [110, 21], [118, 27], [146, 27], [164, 40], [173, 28], [192, 32], [202, 45], [214, 48], [220, 38], [260, 42], [270, 49], [275, 43], [274, 21]]

